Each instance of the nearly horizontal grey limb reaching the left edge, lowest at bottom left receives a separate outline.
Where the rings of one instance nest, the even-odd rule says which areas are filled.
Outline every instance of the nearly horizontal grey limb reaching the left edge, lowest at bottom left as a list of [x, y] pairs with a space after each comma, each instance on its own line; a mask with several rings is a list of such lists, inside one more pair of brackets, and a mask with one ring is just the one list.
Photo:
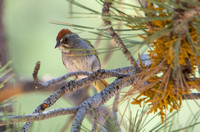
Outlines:
[[26, 122], [26, 121], [40, 121], [45, 120], [61, 115], [68, 115], [68, 114], [76, 114], [78, 107], [72, 108], [59, 108], [50, 111], [46, 111], [43, 113], [35, 113], [29, 115], [19, 115], [19, 116], [8, 116], [5, 117], [5, 120], [0, 121], [0, 126], [13, 124], [16, 122]]

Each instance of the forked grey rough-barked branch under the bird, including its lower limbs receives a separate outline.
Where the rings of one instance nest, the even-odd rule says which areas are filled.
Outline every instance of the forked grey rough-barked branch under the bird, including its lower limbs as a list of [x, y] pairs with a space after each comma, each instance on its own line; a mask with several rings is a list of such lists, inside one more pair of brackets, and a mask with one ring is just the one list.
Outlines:
[[[35, 68], [37, 69], [37, 68]], [[39, 70], [39, 69], [38, 69]], [[38, 72], [38, 71], [37, 71]], [[77, 72], [79, 74], [80, 72]], [[76, 73], [73, 73], [74, 75]], [[69, 81], [61, 87], [59, 90], [57, 90], [55, 93], [50, 95], [46, 100], [43, 101], [42, 104], [40, 104], [33, 114], [25, 115], [25, 116], [9, 116], [7, 120], [0, 119], [0, 125], [5, 125], [6, 123], [12, 124], [15, 122], [23, 122], [28, 121], [23, 127], [23, 131], [28, 131], [31, 127], [30, 121], [36, 121], [36, 120], [44, 120], [48, 118], [52, 118], [59, 115], [66, 115], [66, 114], [73, 114], [76, 113], [78, 110], [76, 117], [73, 122], [73, 127], [71, 131], [80, 131], [81, 123], [85, 117], [85, 115], [90, 110], [95, 110], [101, 107], [104, 103], [106, 103], [111, 97], [116, 95], [114, 104], [113, 104], [113, 115], [115, 117], [115, 121], [117, 120], [117, 103], [119, 92], [121, 89], [123, 89], [126, 86], [130, 86], [134, 83], [135, 80], [135, 72], [133, 67], [124, 67], [119, 69], [113, 69], [113, 70], [98, 70], [93, 73], [87, 73], [88, 77], [77, 80], [77, 81]], [[65, 75], [64, 75], [65, 76]], [[35, 76], [37, 78], [37, 76]], [[62, 76], [63, 77], [63, 76]], [[60, 78], [62, 78], [60, 77]], [[104, 78], [108, 77], [117, 77], [108, 87], [106, 87], [103, 91], [100, 93], [94, 95], [93, 97], [85, 100], [83, 103], [81, 103], [78, 107], [73, 108], [62, 108], [62, 109], [55, 109], [48, 112], [43, 112], [46, 108], [51, 107], [62, 95], [65, 93], [76, 91], [79, 88], [82, 88], [84, 86], [90, 85], [92, 82], [102, 80]], [[54, 80], [56, 83], [56, 79]], [[59, 82], [59, 79], [57, 79], [57, 82]], [[50, 84], [52, 85], [52, 84]], [[183, 99], [200, 99], [199, 93], [192, 93], [191, 95], [184, 95]], [[43, 112], [43, 113], [42, 113]]]

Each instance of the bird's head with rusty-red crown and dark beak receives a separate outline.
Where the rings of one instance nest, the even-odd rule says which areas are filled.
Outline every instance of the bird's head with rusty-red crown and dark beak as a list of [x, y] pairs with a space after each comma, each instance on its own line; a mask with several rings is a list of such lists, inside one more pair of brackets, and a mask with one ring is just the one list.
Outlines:
[[56, 46], [60, 49], [69, 49], [73, 48], [73, 41], [79, 37], [77, 34], [71, 32], [69, 29], [62, 29], [57, 35]]

